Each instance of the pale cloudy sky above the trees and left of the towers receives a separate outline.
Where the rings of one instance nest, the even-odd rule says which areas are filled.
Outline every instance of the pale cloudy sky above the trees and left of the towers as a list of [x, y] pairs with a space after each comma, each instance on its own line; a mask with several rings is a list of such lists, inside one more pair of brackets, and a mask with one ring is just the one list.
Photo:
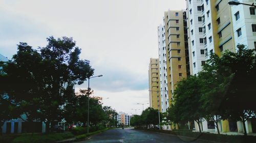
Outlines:
[[0, 0], [0, 53], [11, 59], [19, 42], [37, 48], [49, 36], [73, 37], [80, 58], [103, 75], [90, 80], [94, 96], [139, 114], [137, 103], [149, 103], [148, 64], [158, 58], [157, 26], [168, 9], [185, 9], [185, 0]]

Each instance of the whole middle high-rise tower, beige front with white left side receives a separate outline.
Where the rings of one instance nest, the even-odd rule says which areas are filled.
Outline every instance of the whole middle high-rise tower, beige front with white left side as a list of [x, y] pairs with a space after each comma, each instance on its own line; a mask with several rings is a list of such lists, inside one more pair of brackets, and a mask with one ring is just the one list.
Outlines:
[[176, 83], [189, 75], [186, 11], [164, 12], [158, 26], [161, 107], [165, 112], [172, 102]]

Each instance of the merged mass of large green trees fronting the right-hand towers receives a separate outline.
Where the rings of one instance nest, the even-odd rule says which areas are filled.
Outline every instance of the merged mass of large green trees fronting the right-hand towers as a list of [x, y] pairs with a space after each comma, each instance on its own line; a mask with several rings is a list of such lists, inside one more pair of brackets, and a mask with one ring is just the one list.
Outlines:
[[[211, 54], [197, 76], [177, 83], [174, 102], [167, 110], [173, 122], [218, 121], [230, 119], [245, 122], [255, 118], [256, 55], [255, 49], [237, 46], [236, 53], [225, 51], [221, 57]], [[199, 126], [200, 129], [200, 126]], [[219, 130], [218, 130], [219, 133]]]

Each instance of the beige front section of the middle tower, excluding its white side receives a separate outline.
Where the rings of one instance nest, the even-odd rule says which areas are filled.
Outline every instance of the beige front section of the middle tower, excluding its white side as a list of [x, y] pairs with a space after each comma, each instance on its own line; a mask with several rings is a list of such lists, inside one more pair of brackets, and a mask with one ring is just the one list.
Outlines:
[[[178, 81], [186, 78], [189, 73], [188, 43], [186, 31], [186, 11], [164, 12], [165, 50], [167, 67], [168, 96], [170, 104]], [[162, 56], [159, 54], [159, 56]], [[162, 76], [162, 75], [160, 75]], [[164, 103], [163, 103], [164, 104]]]

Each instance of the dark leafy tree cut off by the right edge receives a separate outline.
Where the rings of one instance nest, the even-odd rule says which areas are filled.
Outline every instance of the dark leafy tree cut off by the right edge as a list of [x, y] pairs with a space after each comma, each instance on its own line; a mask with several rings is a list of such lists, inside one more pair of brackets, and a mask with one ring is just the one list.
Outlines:
[[220, 106], [225, 109], [222, 118], [241, 120], [244, 134], [247, 135], [245, 122], [249, 118], [255, 118], [253, 101], [256, 93], [256, 55], [255, 49], [248, 49], [244, 45], [238, 45], [237, 49], [236, 53], [226, 51], [220, 58], [215, 56], [210, 62], [216, 65], [220, 75], [232, 75]]

